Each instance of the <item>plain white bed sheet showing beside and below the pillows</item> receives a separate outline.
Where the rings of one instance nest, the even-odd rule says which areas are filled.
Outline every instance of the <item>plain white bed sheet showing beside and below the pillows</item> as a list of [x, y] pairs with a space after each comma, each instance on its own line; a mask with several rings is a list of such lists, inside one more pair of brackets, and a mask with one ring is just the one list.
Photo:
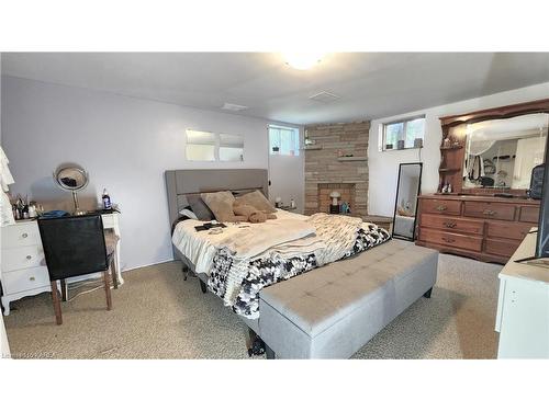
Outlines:
[[[309, 218], [307, 216], [279, 208], [277, 208], [276, 215], [277, 219], [305, 220]], [[262, 224], [269, 225], [270, 221], [276, 220], [267, 220]], [[240, 227], [249, 226], [250, 222], [225, 222], [227, 227], [224, 228], [223, 232], [220, 235], [210, 235], [208, 230], [197, 231], [194, 229], [194, 227], [203, 224], [204, 221], [191, 219], [178, 222], [171, 236], [171, 242], [192, 264], [194, 264], [197, 273], [209, 274], [212, 269], [217, 244], [228, 236], [242, 230], [243, 228]]]

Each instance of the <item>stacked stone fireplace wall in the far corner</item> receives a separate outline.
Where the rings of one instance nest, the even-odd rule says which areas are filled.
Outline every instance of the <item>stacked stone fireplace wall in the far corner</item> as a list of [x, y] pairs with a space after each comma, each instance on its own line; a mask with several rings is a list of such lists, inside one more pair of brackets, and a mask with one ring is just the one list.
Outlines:
[[[352, 215], [368, 214], [368, 133], [370, 122], [322, 124], [305, 127], [305, 136], [321, 149], [305, 151], [305, 214], [326, 213], [328, 187], [345, 190]], [[339, 161], [340, 156], [362, 157], [359, 161]], [[354, 186], [352, 186], [354, 185]], [[347, 189], [352, 189], [354, 193]], [[322, 190], [322, 192], [320, 192]], [[332, 191], [332, 190], [329, 190]], [[343, 193], [341, 193], [343, 194]], [[343, 198], [344, 201], [346, 198]]]

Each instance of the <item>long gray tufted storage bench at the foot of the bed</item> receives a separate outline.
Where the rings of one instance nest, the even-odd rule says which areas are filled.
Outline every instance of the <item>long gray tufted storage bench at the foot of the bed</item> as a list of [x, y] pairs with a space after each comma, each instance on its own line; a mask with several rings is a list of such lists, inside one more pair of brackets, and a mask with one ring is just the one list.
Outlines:
[[422, 296], [438, 251], [391, 240], [260, 293], [268, 357], [348, 358]]

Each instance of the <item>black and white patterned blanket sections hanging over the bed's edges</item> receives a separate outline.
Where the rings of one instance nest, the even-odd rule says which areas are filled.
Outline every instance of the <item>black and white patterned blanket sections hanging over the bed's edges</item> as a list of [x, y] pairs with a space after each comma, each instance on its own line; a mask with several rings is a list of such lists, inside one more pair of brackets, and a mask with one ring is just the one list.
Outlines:
[[[379, 246], [391, 238], [384, 228], [374, 224], [365, 224], [358, 229], [356, 240], [344, 259]], [[228, 273], [234, 264], [233, 254], [228, 249], [221, 249], [213, 260], [208, 286], [212, 293], [221, 298], [227, 292]], [[232, 304], [234, 312], [250, 319], [259, 317], [259, 292], [261, 288], [278, 282], [316, 269], [320, 264], [315, 253], [302, 254], [292, 258], [271, 255], [253, 260], [246, 264], [244, 279], [236, 299]]]

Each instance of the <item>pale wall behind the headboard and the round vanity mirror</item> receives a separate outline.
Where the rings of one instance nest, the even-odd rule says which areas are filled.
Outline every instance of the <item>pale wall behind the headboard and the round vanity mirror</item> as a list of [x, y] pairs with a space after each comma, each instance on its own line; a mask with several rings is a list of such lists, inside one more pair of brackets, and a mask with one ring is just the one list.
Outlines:
[[[165, 170], [268, 167], [264, 119], [12, 77], [2, 77], [1, 104], [11, 192], [70, 209], [52, 172], [65, 161], [83, 165], [81, 205], [93, 207], [103, 187], [120, 204], [125, 270], [172, 258]], [[187, 161], [187, 128], [243, 135], [244, 163]]]

